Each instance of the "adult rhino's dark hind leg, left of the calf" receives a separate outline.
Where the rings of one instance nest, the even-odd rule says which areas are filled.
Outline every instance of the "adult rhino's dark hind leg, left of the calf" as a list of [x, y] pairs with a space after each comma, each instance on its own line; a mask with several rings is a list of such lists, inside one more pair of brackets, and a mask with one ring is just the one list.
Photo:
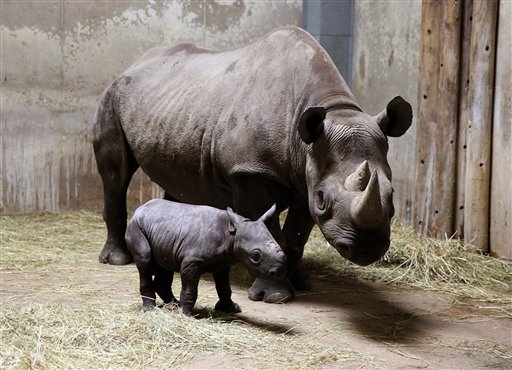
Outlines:
[[108, 232], [99, 260], [112, 265], [125, 265], [131, 261], [124, 240], [126, 191], [139, 166], [128, 147], [112, 99], [112, 93], [107, 92], [98, 107], [94, 125], [94, 154], [103, 182], [103, 218]]

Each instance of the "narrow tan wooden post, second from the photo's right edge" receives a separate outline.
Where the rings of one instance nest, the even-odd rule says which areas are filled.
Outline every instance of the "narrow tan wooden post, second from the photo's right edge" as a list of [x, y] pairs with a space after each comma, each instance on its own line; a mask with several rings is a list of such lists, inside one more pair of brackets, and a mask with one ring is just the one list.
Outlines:
[[473, 3], [469, 66], [464, 239], [487, 252], [497, 0]]

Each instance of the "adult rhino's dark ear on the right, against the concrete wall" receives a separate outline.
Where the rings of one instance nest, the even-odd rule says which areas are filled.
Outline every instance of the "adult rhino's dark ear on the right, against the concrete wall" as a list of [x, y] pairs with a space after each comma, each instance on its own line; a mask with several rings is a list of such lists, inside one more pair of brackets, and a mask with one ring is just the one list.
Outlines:
[[411, 105], [401, 96], [396, 96], [388, 103], [386, 109], [375, 117], [375, 120], [386, 136], [402, 136], [411, 126]]

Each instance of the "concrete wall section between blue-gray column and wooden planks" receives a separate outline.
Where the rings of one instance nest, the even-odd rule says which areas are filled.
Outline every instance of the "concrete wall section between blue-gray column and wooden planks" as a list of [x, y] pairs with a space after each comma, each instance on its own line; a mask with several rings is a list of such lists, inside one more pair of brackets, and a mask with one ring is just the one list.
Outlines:
[[[356, 1], [352, 91], [362, 108], [377, 114], [396, 95], [417, 112], [421, 1]], [[410, 221], [414, 186], [415, 122], [400, 138], [390, 138], [397, 216]]]

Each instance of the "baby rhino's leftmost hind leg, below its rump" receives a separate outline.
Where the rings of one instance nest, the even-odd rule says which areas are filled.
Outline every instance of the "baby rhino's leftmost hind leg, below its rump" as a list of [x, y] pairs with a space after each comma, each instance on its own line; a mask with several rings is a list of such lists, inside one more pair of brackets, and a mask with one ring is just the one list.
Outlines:
[[151, 268], [151, 247], [135, 222], [130, 222], [128, 225], [125, 239], [126, 246], [133, 256], [137, 270], [139, 270], [142, 310], [151, 310], [155, 307], [156, 300]]

